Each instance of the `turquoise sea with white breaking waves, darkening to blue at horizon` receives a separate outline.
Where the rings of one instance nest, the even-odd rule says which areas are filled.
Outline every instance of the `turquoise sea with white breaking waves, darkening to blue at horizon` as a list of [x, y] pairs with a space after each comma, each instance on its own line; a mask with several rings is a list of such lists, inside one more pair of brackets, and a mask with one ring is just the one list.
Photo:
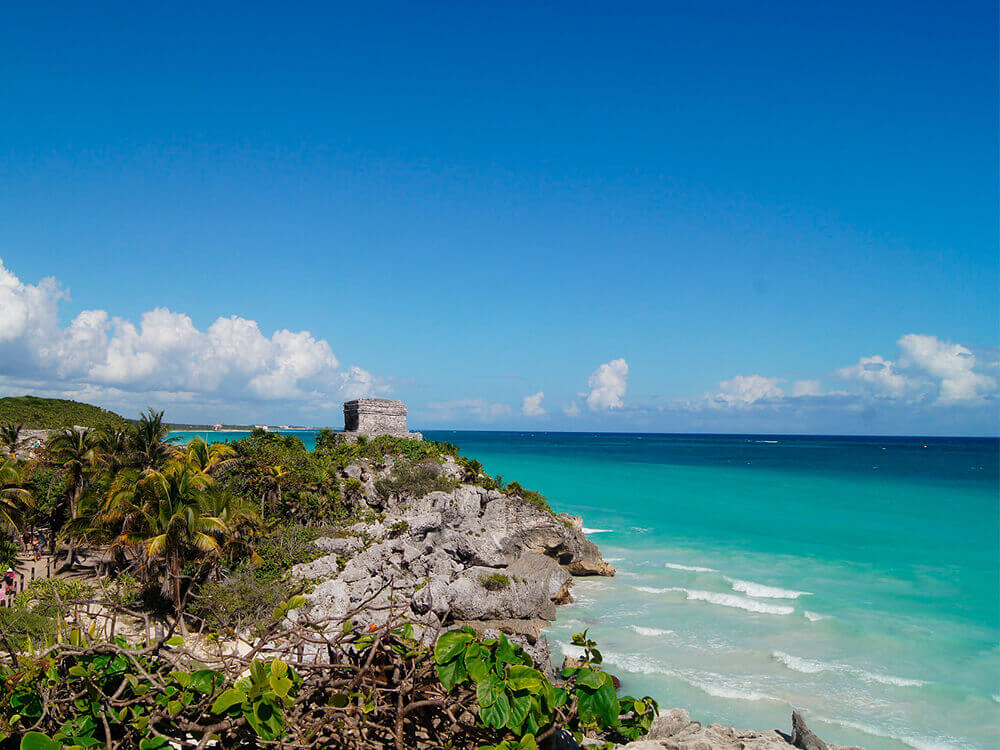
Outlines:
[[617, 567], [577, 579], [556, 656], [589, 628], [627, 691], [706, 723], [794, 707], [837, 744], [1000, 747], [997, 440], [425, 435], [583, 516]]

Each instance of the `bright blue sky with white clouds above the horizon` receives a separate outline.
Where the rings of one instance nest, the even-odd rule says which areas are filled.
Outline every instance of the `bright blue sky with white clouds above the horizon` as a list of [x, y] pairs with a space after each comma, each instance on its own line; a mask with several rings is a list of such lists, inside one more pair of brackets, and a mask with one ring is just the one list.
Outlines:
[[993, 2], [20, 3], [0, 396], [995, 435]]

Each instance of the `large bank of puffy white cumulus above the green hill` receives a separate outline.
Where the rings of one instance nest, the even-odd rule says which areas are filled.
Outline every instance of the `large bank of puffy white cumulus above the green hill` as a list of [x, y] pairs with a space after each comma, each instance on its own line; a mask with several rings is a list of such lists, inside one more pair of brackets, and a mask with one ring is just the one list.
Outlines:
[[165, 307], [138, 323], [84, 310], [61, 326], [59, 303], [67, 297], [54, 279], [25, 284], [0, 260], [0, 376], [63, 393], [86, 386], [229, 401], [319, 403], [389, 390], [359, 367], [338, 372], [330, 344], [308, 331], [266, 336], [256, 321], [235, 315], [200, 330], [190, 316]]

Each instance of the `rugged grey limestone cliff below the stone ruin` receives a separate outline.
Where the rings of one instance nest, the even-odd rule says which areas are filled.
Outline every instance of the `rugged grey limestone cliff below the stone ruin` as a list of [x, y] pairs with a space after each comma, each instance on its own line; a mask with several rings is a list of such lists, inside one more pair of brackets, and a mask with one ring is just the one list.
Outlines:
[[327, 554], [293, 569], [313, 584], [304, 609], [311, 619], [356, 611], [362, 624], [389, 617], [435, 630], [468, 623], [534, 646], [544, 644], [540, 629], [555, 619], [556, 605], [572, 601], [573, 576], [615, 574], [580, 518], [463, 484], [464, 470], [451, 458], [421, 466], [449, 489], [387, 492], [380, 480], [393, 477], [391, 458], [346, 467], [353, 502], [372, 520], [317, 540]]

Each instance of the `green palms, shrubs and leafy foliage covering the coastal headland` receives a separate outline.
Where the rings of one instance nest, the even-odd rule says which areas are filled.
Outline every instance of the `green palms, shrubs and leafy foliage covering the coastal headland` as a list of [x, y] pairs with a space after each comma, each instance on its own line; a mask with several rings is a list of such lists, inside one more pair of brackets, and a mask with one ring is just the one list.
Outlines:
[[[460, 480], [445, 470], [451, 461]], [[358, 462], [360, 475], [348, 469]], [[0, 523], [51, 530], [68, 566], [77, 547], [98, 547], [110, 575], [36, 581], [0, 609], [0, 749], [217, 738], [247, 749], [531, 750], [560, 727], [614, 742], [648, 729], [656, 702], [619, 697], [586, 633], [574, 636], [583, 660], [550, 678], [506, 636], [463, 628], [430, 648], [414, 636], [426, 624], [392, 615], [370, 629], [357, 627], [357, 613], [311, 621], [301, 593], [312, 584], [290, 571], [324, 554], [320, 536], [367, 541], [351, 527], [385, 520], [365, 496], [375, 472], [383, 501], [461, 481], [551, 512], [539, 493], [490, 477], [447, 443], [346, 443], [324, 432], [310, 452], [296, 437], [255, 431], [180, 447], [152, 409], [134, 423], [63, 429], [31, 460], [5, 453]], [[407, 530], [396, 521], [388, 536]], [[0, 561], [9, 554], [0, 544]], [[489, 591], [512, 583], [500, 572], [478, 580]], [[192, 629], [196, 643], [185, 638]]]

